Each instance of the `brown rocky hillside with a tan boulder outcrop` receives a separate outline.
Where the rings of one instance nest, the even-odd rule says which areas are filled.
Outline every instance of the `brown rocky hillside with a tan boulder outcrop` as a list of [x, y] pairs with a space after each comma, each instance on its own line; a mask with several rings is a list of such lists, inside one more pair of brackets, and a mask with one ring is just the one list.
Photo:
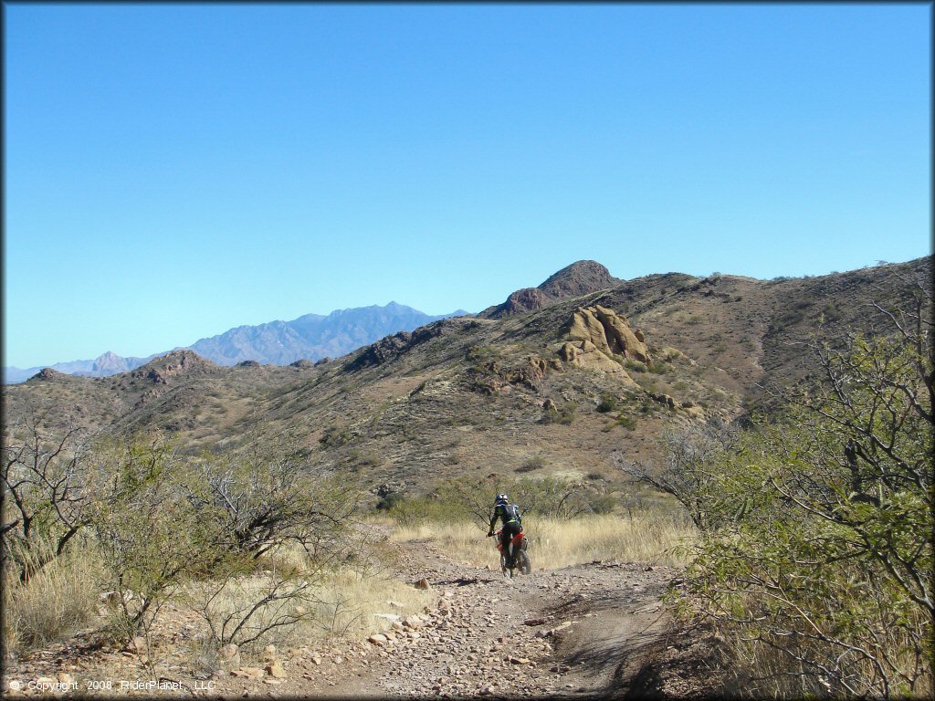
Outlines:
[[645, 459], [669, 428], [741, 415], [761, 385], [809, 371], [799, 341], [819, 322], [868, 328], [869, 303], [930, 280], [931, 262], [810, 279], [617, 281], [526, 313], [431, 322], [315, 364], [223, 367], [183, 350], [110, 378], [46, 373], [7, 388], [7, 426], [41, 417], [158, 429], [191, 451], [295, 439], [384, 492], [495, 472], [620, 490], [611, 451]]

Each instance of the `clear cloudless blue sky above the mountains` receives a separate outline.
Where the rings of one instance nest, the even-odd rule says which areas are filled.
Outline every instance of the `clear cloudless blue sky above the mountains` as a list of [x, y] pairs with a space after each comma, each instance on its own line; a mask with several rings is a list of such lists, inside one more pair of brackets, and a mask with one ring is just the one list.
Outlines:
[[16, 5], [5, 364], [929, 252], [928, 5]]

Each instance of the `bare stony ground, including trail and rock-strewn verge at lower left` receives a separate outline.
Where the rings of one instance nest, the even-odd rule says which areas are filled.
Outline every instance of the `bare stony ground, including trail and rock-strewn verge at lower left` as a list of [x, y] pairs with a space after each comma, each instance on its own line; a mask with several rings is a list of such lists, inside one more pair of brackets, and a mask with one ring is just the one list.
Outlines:
[[[269, 648], [266, 661], [256, 666], [227, 664], [210, 678], [182, 679], [174, 689], [125, 694], [571, 699], [685, 698], [705, 691], [698, 686], [698, 660], [706, 649], [674, 633], [659, 601], [677, 577], [675, 570], [595, 562], [539, 571], [533, 547], [532, 574], [506, 579], [490, 565], [453, 562], [424, 541], [396, 547], [396, 577], [429, 588], [423, 613], [381, 614], [392, 628], [368, 639]], [[122, 655], [131, 658], [128, 662], [134, 658], [131, 652], [118, 658]], [[17, 680], [44, 680], [47, 689], [71, 681], [81, 667], [68, 664], [67, 657], [64, 648], [44, 651], [7, 669], [4, 692], [42, 693], [10, 687]], [[77, 692], [85, 694], [111, 695], [109, 690]]]

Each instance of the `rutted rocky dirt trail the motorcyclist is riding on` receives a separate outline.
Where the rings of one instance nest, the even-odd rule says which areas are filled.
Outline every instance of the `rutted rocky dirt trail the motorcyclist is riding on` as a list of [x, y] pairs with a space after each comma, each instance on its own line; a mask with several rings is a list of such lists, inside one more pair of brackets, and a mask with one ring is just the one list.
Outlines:
[[[338, 697], [595, 697], [626, 694], [665, 635], [659, 603], [674, 571], [592, 563], [504, 578], [455, 563], [432, 545], [402, 546], [400, 576], [439, 594], [424, 625], [364, 643], [277, 694]], [[492, 551], [491, 560], [496, 553]]]

